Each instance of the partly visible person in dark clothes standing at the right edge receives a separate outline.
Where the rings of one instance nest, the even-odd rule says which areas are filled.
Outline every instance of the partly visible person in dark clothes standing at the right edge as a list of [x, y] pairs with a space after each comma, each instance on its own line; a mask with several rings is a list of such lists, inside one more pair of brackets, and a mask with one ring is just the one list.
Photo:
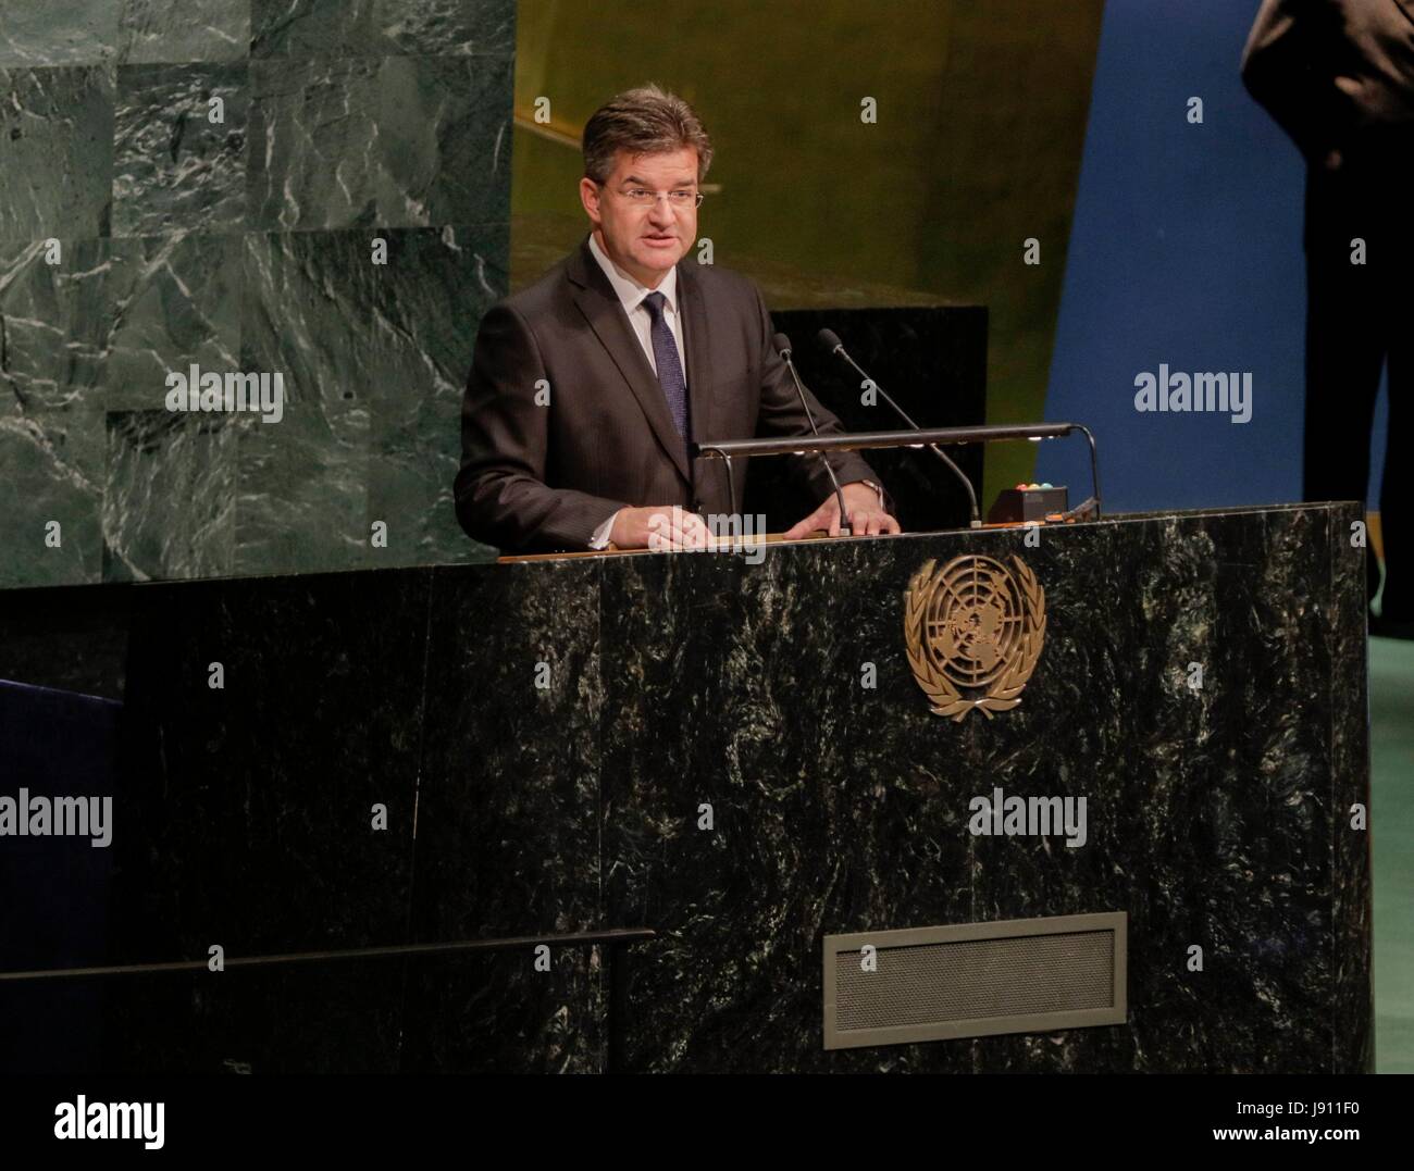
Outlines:
[[[1264, 0], [1241, 76], [1307, 160], [1302, 495], [1365, 499], [1389, 363], [1384, 597], [1370, 631], [1414, 638], [1414, 523], [1398, 470], [1414, 410], [1414, 0]], [[1373, 546], [1366, 570], [1373, 598]]]

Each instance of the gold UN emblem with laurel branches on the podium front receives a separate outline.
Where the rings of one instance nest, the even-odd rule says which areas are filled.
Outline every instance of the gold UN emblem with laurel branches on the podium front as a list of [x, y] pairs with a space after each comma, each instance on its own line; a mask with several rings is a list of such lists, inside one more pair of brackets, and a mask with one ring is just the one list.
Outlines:
[[1021, 703], [1046, 635], [1046, 591], [1019, 557], [1015, 573], [991, 557], [929, 560], [904, 595], [904, 641], [913, 679], [936, 716], [990, 720]]

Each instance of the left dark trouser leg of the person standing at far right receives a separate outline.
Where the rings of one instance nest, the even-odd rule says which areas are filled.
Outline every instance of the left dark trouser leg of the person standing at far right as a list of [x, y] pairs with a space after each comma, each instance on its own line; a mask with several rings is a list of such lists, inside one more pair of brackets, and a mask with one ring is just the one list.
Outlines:
[[[1363, 501], [1386, 355], [1383, 281], [1373, 264], [1350, 263], [1350, 238], [1360, 232], [1350, 231], [1345, 216], [1312, 211], [1308, 202], [1302, 495], [1307, 501]], [[1381, 523], [1387, 523], [1383, 516]], [[1369, 546], [1366, 577], [1373, 597], [1380, 570]]]

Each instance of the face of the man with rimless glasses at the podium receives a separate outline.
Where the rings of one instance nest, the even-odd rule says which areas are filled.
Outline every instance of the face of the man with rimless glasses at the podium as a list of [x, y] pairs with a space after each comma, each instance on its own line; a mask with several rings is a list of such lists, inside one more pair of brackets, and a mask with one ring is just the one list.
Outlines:
[[[691, 147], [672, 154], [635, 156], [621, 150], [602, 187], [590, 178], [580, 180], [580, 201], [594, 221], [604, 252], [649, 289], [659, 286], [697, 239], [696, 199], [679, 197], [674, 204], [667, 198], [672, 191], [697, 191], [697, 151]], [[659, 198], [643, 202], [643, 192]]]

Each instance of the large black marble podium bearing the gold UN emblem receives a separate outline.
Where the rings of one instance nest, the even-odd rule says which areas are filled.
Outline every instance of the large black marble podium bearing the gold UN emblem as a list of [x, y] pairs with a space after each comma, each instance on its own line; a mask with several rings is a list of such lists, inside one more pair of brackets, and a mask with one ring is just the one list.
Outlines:
[[[617, 983], [598, 948], [530, 943], [116, 979], [115, 1069], [602, 1071], [612, 1048], [632, 1071], [1367, 1071], [1360, 519], [1280, 505], [775, 543], [758, 563], [64, 591], [86, 615], [75, 653], [102, 648], [86, 670], [124, 707], [116, 875], [92, 894], [112, 942], [54, 963], [652, 932]], [[1017, 574], [1044, 638], [1018, 703], [950, 684], [973, 706], [937, 714], [918, 648], [1003, 622], [928, 600], [909, 617], [959, 559]], [[8, 595], [6, 629], [58, 621], [55, 593]], [[25, 666], [0, 652], [0, 675]], [[1083, 798], [1083, 843], [978, 820], [1005, 798]], [[1041, 943], [983, 946], [1021, 921]], [[1093, 931], [1097, 949], [1075, 942]], [[940, 966], [901, 996], [921, 956]], [[1038, 990], [1070, 965], [1117, 1003], [1051, 1004]], [[904, 1021], [964, 984], [960, 1024]], [[977, 1015], [994, 991], [1007, 1013]], [[850, 997], [858, 1027], [943, 1039], [841, 1039]]]

